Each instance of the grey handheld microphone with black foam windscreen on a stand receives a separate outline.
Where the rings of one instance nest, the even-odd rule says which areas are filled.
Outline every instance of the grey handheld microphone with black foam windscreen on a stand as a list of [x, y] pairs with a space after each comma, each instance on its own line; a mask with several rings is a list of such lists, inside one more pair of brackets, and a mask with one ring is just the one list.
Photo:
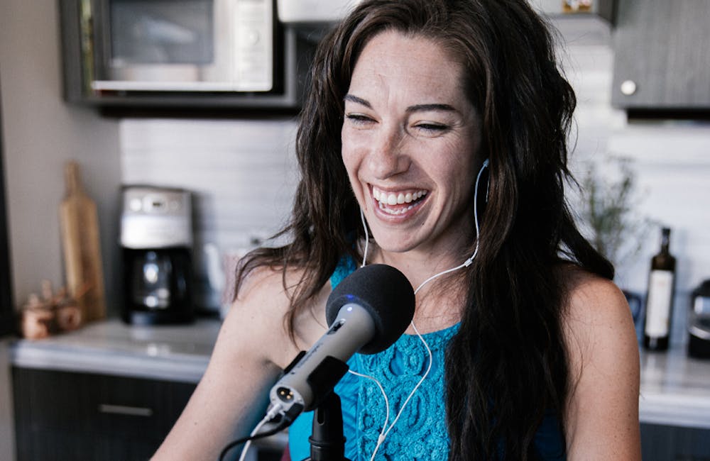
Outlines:
[[345, 362], [355, 352], [381, 352], [404, 333], [414, 305], [412, 285], [392, 266], [368, 265], [345, 277], [328, 297], [330, 328], [271, 388], [271, 408], [289, 418], [315, 409], [348, 371]]

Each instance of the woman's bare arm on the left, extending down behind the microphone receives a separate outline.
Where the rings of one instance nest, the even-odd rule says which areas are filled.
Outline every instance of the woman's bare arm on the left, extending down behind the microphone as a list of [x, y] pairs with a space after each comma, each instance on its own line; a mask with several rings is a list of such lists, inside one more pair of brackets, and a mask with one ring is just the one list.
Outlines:
[[297, 352], [283, 326], [280, 272], [250, 275], [219, 331], [207, 370], [154, 460], [215, 461], [263, 418], [268, 391]]

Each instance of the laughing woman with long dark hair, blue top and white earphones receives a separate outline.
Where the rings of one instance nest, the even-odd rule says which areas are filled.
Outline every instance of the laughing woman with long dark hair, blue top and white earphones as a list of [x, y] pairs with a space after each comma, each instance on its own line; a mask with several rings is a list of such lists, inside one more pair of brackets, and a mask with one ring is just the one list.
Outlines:
[[156, 458], [214, 459], [249, 433], [280, 370], [326, 330], [332, 287], [366, 260], [402, 271], [416, 306], [391, 350], [349, 362], [383, 382], [391, 414], [370, 379], [336, 389], [347, 457], [640, 459], [628, 305], [564, 201], [574, 104], [525, 0], [359, 4], [315, 57], [292, 243], [244, 261]]

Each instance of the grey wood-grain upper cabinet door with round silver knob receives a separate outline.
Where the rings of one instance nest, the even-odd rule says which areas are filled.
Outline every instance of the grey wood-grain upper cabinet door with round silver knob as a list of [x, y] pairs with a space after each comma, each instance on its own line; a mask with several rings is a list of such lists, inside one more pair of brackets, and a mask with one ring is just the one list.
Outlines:
[[618, 0], [613, 106], [652, 111], [709, 109], [708, 38], [708, 0]]

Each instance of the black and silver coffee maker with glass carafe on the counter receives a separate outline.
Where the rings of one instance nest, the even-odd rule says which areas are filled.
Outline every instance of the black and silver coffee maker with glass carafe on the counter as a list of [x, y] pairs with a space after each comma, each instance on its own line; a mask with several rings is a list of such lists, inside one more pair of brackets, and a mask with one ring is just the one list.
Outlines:
[[190, 192], [126, 186], [121, 196], [124, 321], [143, 325], [192, 321]]

